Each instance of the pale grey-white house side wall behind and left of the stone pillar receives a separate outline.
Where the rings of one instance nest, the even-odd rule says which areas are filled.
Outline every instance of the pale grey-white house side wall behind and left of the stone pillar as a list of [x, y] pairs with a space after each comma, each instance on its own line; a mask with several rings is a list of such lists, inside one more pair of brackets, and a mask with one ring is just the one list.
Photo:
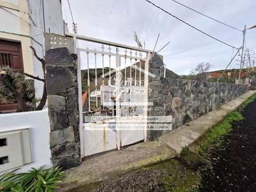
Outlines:
[[[29, 0], [29, 16], [30, 23], [36, 25], [37, 27], [30, 25], [30, 36], [33, 37], [37, 42], [31, 40], [32, 46], [37, 51], [40, 58], [44, 56], [44, 24], [45, 32], [51, 32], [54, 34], [63, 35], [63, 18], [62, 18], [62, 4], [60, 0]], [[44, 7], [44, 9], [43, 9]], [[45, 22], [43, 22], [43, 10]], [[40, 44], [43, 46], [40, 45]], [[43, 71], [41, 63], [37, 58], [33, 57], [34, 62], [34, 75], [43, 77]], [[42, 98], [43, 93], [43, 83], [41, 81], [35, 80], [35, 96], [37, 98]]]

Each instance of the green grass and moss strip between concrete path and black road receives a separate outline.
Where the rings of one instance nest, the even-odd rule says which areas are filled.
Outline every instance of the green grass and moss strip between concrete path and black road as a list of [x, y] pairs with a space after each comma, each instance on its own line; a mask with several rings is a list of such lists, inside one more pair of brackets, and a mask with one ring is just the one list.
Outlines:
[[[254, 99], [256, 99], [256, 94], [247, 99], [241, 109]], [[222, 122], [206, 132], [195, 153], [191, 152], [189, 147], [183, 147], [178, 160], [172, 159], [160, 163], [158, 167], [160, 166], [168, 172], [161, 179], [163, 189], [167, 191], [198, 191], [202, 178], [201, 171], [211, 169], [209, 155], [214, 150], [222, 149], [226, 135], [232, 130], [232, 122], [243, 119], [239, 111], [230, 112]]]

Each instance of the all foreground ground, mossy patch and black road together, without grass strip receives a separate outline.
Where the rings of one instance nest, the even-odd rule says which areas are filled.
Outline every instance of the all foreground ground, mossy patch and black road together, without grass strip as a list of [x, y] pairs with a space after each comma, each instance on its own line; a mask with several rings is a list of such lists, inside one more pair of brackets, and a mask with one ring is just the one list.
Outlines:
[[75, 191], [256, 191], [256, 100], [241, 113], [244, 120], [211, 153], [211, 169], [172, 158]]

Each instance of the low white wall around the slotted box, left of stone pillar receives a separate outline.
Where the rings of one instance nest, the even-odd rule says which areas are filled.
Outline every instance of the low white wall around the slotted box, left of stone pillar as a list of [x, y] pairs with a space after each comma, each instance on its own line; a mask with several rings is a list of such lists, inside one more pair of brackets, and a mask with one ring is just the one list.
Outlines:
[[18, 172], [51, 165], [50, 122], [48, 109], [42, 111], [0, 114], [0, 132], [29, 128], [32, 163], [24, 165]]

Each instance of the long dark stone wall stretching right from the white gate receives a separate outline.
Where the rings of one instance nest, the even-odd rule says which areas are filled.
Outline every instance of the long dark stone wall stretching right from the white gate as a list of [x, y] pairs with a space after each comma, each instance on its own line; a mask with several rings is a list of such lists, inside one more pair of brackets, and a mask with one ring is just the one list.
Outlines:
[[[149, 81], [149, 101], [153, 102], [153, 107], [148, 115], [171, 116], [172, 129], [177, 129], [249, 91], [245, 85], [163, 78], [163, 60], [160, 55], [155, 55], [150, 60], [149, 71], [156, 76]], [[155, 108], [163, 110], [154, 110]], [[148, 139], [154, 140], [167, 132], [150, 130]]]

